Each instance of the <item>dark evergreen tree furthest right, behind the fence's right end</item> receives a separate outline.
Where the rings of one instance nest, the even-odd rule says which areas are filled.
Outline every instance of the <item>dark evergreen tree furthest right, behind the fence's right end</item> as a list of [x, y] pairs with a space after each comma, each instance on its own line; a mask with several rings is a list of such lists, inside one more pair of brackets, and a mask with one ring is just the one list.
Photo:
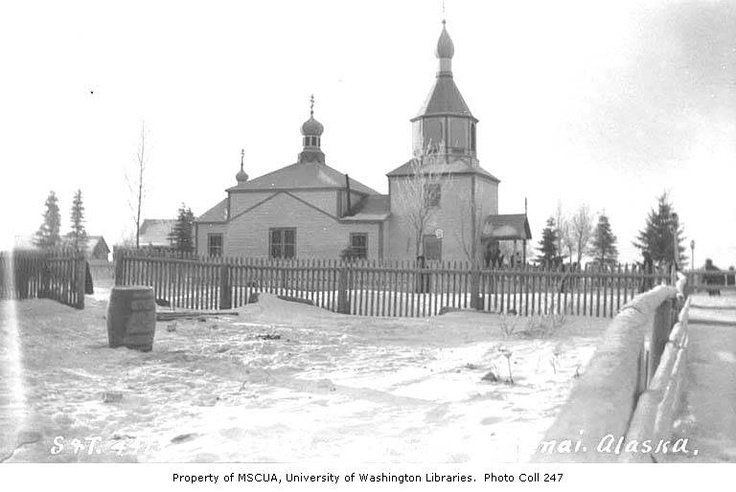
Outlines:
[[639, 231], [634, 246], [642, 252], [648, 251], [655, 263], [666, 264], [674, 259], [676, 244], [677, 262], [682, 265], [685, 259], [685, 246], [682, 244], [684, 240], [682, 224], [677, 219], [667, 193], [662, 193], [657, 199], [657, 209], [649, 212], [646, 226]]

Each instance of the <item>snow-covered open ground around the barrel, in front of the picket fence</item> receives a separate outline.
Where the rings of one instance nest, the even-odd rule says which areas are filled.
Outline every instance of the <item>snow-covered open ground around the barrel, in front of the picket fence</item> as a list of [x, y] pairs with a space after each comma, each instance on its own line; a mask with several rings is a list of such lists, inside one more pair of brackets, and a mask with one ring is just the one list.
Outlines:
[[[159, 322], [142, 353], [108, 348], [108, 296], [15, 304], [25, 411], [4, 377], [0, 459], [524, 462], [610, 322], [568, 316], [540, 339], [519, 318], [505, 339], [492, 314], [367, 318], [262, 295], [237, 317]], [[0, 310], [5, 374], [18, 351]]]

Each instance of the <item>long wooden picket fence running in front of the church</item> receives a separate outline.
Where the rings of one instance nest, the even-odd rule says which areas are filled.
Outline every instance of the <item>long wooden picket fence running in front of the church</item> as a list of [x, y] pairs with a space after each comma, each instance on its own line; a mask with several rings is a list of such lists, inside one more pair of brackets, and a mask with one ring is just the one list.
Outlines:
[[162, 305], [231, 309], [265, 292], [344, 314], [426, 317], [472, 308], [524, 316], [612, 317], [662, 273], [487, 269], [466, 262], [196, 257], [118, 250], [116, 285], [152, 286]]

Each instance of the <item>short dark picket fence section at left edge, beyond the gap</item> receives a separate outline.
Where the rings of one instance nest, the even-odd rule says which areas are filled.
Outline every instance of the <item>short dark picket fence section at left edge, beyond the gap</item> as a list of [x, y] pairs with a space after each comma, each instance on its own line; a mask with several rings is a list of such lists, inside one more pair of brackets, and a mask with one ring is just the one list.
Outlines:
[[0, 299], [52, 299], [84, 309], [86, 260], [72, 251], [0, 252]]

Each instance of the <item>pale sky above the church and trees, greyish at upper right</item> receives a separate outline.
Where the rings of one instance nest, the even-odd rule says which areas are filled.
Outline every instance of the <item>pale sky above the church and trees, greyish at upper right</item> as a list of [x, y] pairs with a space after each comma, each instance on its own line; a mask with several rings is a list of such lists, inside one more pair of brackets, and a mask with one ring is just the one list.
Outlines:
[[[667, 192], [696, 263], [736, 264], [736, 1], [446, 0], [453, 71], [500, 213], [605, 212], [620, 259]], [[145, 126], [145, 218], [206, 212], [296, 162], [315, 97], [327, 164], [387, 192], [434, 81], [441, 0], [4, 2], [0, 246], [133, 231], [126, 182]], [[689, 249], [688, 249], [689, 253]]]

